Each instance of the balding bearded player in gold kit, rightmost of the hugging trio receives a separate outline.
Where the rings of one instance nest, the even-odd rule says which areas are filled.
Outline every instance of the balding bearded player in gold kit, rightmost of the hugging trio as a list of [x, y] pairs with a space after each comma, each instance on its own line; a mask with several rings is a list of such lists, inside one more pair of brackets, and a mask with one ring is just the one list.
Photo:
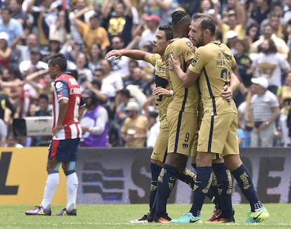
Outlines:
[[[205, 114], [198, 133], [197, 179], [190, 211], [172, 223], [201, 223], [200, 211], [205, 193], [212, 183], [212, 158], [218, 153], [238, 182], [243, 195], [250, 202], [251, 211], [246, 223], [260, 223], [269, 218], [269, 213], [261, 204], [252, 183], [250, 172], [240, 159], [238, 148], [238, 114], [233, 100], [221, 98], [221, 87], [231, 80], [231, 72], [236, 63], [231, 50], [220, 41], [215, 41], [215, 22], [206, 14], [197, 14], [193, 19], [191, 34], [198, 49], [186, 74], [179, 67], [179, 73], [186, 87], [193, 86], [199, 77], [201, 99]], [[172, 62], [173, 56], [170, 58]], [[174, 57], [175, 58], [175, 57]], [[232, 87], [232, 85], [230, 85]], [[214, 171], [215, 173], [215, 171]], [[231, 192], [228, 190], [226, 192]], [[227, 194], [227, 193], [226, 193]], [[221, 222], [233, 222], [231, 206], [228, 215], [221, 215]]]

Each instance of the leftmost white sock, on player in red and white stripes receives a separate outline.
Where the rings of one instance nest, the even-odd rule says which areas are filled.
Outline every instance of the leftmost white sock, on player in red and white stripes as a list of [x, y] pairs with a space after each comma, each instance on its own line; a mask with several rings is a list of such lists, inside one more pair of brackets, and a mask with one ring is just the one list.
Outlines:
[[48, 174], [46, 179], [46, 185], [44, 187], [44, 199], [42, 199], [41, 205], [45, 209], [51, 206], [51, 200], [53, 195], [55, 195], [56, 189], [58, 188], [58, 183], [60, 181], [60, 176], [58, 173]]

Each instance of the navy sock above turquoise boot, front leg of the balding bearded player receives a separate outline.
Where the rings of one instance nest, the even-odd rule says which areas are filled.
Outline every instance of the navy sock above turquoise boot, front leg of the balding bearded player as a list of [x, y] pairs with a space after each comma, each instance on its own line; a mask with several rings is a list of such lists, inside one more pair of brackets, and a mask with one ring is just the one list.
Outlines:
[[205, 195], [212, 184], [212, 167], [197, 167], [197, 178], [193, 192], [193, 204], [190, 212], [193, 216], [200, 216]]

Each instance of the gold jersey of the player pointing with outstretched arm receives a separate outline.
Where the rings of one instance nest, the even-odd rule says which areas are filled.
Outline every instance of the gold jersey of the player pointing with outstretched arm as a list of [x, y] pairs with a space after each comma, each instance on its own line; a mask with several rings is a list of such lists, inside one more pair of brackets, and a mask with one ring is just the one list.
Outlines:
[[[153, 54], [150, 57], [149, 63], [155, 67], [155, 84], [157, 87], [171, 90], [169, 77], [166, 74], [167, 65], [162, 60], [159, 54]], [[159, 114], [160, 124], [167, 123], [167, 108], [172, 101], [172, 97], [156, 96], [155, 105], [157, 106], [157, 113]]]

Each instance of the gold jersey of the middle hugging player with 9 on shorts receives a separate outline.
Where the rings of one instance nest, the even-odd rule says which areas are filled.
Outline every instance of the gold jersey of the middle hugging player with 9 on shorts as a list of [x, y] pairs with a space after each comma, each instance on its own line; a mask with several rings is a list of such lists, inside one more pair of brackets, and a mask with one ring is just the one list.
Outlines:
[[[170, 55], [172, 54], [175, 59], [179, 58], [180, 55], [181, 68], [183, 72], [186, 72], [186, 62], [194, 58], [194, 48], [191, 41], [186, 37], [172, 39], [164, 51], [164, 59], [169, 66]], [[197, 112], [200, 99], [197, 86], [193, 85], [185, 88], [181, 79], [170, 67], [167, 69], [167, 74], [169, 74], [174, 91], [169, 107], [182, 112]]]

